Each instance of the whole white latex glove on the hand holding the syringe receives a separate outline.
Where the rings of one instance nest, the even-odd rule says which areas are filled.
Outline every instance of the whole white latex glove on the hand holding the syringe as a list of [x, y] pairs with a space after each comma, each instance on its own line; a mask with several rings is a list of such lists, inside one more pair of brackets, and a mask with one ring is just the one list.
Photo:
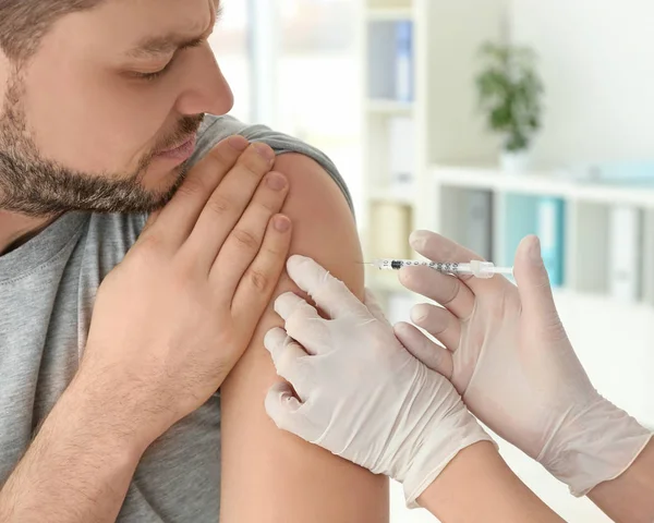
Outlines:
[[[412, 234], [411, 244], [433, 260], [479, 259], [426, 231]], [[651, 433], [591, 385], [558, 317], [535, 236], [521, 243], [514, 277], [518, 288], [502, 277], [402, 269], [408, 289], [445, 307], [416, 305], [411, 319], [446, 349], [409, 324], [398, 324], [396, 335], [451, 379], [482, 422], [582, 496], [625, 472]]]

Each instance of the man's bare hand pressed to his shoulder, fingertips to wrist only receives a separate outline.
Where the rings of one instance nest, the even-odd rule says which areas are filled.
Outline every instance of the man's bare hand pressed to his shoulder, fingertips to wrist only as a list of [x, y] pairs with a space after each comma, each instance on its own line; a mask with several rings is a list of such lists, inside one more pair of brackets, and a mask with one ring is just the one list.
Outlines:
[[291, 238], [274, 158], [220, 143], [100, 285], [76, 385], [146, 442], [216, 392], [271, 297]]

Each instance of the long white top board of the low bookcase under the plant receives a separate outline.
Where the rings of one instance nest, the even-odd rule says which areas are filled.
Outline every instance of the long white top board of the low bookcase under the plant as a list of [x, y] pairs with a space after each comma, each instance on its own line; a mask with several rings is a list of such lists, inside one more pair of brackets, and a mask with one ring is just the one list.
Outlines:
[[434, 166], [431, 172], [436, 183], [453, 187], [560, 196], [569, 200], [589, 203], [654, 207], [654, 187], [574, 181], [555, 170], [508, 174], [493, 167]]

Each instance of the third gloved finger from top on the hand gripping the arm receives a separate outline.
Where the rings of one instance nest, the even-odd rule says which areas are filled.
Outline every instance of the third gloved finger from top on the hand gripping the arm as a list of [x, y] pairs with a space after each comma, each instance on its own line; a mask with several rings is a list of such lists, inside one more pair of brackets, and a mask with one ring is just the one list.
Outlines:
[[277, 375], [293, 386], [302, 401], [306, 400], [306, 373], [303, 373], [306, 365], [303, 362], [310, 356], [302, 345], [277, 327], [266, 333], [264, 346], [272, 357]]

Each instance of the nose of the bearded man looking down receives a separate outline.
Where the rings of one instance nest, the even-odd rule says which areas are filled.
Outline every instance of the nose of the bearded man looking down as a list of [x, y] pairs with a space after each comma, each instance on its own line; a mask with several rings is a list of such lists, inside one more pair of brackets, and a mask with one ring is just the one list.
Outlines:
[[196, 51], [196, 59], [187, 71], [187, 86], [178, 99], [177, 109], [181, 114], [226, 114], [234, 106], [233, 93], [209, 45], [205, 44]]

